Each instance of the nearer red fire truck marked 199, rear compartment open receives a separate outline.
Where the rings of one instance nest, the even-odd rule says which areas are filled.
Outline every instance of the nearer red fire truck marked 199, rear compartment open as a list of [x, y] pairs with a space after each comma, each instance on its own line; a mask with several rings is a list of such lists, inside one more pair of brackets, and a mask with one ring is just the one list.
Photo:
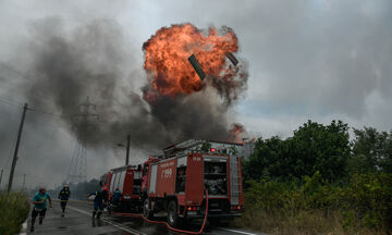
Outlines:
[[241, 217], [244, 194], [241, 144], [191, 139], [163, 149], [143, 165], [143, 213], [166, 211], [168, 223], [204, 218]]

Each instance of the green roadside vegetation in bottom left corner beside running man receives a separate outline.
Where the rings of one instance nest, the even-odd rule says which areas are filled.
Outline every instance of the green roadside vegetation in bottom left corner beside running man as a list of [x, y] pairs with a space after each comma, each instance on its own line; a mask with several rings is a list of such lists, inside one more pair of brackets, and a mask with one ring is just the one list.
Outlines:
[[0, 234], [13, 235], [20, 232], [27, 219], [29, 203], [24, 193], [0, 193]]

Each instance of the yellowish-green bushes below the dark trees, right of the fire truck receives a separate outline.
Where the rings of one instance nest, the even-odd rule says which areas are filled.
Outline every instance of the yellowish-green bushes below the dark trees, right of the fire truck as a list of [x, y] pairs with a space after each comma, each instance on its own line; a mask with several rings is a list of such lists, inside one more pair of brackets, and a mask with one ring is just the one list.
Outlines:
[[[355, 231], [353, 233], [370, 230], [370, 234], [392, 228], [392, 174], [356, 174], [344, 186], [330, 184], [319, 172], [304, 177], [302, 184], [296, 180], [279, 182], [262, 178], [248, 181], [246, 185], [246, 211], [242, 220], [245, 226], [255, 228], [265, 224], [260, 228], [266, 230], [266, 226], [271, 226], [266, 218], [275, 218], [304, 230], [306, 221], [313, 220], [315, 224], [310, 234], [322, 230], [328, 233], [336, 226], [343, 233], [347, 230]], [[332, 221], [334, 224], [330, 227], [324, 224]]]

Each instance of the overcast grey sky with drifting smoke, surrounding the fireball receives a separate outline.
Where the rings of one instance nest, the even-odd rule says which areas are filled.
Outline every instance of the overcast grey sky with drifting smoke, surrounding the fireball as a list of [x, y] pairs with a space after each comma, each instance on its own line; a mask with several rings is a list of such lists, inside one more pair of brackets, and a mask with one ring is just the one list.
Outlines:
[[[181, 131], [171, 123], [172, 133], [162, 134], [163, 118], [155, 118], [157, 110], [142, 99], [148, 78], [142, 46], [162, 26], [181, 23], [201, 29], [231, 27], [238, 38], [236, 57], [247, 65], [247, 89], [228, 110], [209, 101], [218, 95], [208, 89], [169, 103], [180, 107], [186, 119], [207, 107], [196, 121], [223, 123], [208, 135], [220, 136], [216, 133], [238, 122], [252, 136], [286, 137], [308, 119], [389, 131], [391, 22], [388, 0], [0, 1], [1, 169], [8, 178], [23, 102], [58, 115], [70, 113], [86, 96], [97, 104], [97, 133], [111, 135], [93, 141], [88, 178], [123, 163], [125, 150], [115, 145], [124, 141], [127, 128], [135, 135], [132, 163], [177, 139]], [[175, 121], [189, 128], [186, 119]], [[199, 137], [200, 132], [191, 134]], [[60, 184], [75, 141], [69, 122], [27, 112], [16, 185], [23, 174], [27, 185]]]

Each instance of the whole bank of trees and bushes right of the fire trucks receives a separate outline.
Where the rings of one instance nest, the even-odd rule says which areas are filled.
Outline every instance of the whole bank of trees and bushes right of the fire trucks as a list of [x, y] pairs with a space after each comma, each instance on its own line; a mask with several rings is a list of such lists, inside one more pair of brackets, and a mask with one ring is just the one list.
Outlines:
[[243, 177], [241, 226], [273, 234], [392, 232], [392, 132], [308, 121], [292, 137], [258, 138]]

